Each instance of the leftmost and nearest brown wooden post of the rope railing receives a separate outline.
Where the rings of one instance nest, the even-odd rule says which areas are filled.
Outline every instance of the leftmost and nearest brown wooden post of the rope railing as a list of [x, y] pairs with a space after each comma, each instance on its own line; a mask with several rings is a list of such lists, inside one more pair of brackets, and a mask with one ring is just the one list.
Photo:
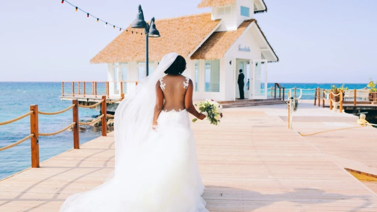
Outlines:
[[31, 137], [31, 167], [39, 167], [39, 131], [38, 131], [38, 105], [30, 105], [30, 110], [34, 113], [30, 114], [30, 134]]

